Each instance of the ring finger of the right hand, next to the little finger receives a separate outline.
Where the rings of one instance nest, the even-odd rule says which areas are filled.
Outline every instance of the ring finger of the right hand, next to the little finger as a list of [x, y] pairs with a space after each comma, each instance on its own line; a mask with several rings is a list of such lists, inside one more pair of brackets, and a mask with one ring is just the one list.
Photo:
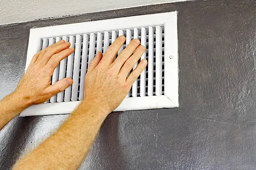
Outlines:
[[141, 55], [143, 55], [144, 51], [145, 51], [145, 47], [143, 45], [138, 46], [138, 48], [133, 53], [133, 55], [130, 58], [128, 58], [128, 60], [126, 60], [126, 62], [124, 63], [122, 69], [119, 72], [119, 75], [126, 78], [128, 73], [133, 68], [133, 66], [140, 59]]

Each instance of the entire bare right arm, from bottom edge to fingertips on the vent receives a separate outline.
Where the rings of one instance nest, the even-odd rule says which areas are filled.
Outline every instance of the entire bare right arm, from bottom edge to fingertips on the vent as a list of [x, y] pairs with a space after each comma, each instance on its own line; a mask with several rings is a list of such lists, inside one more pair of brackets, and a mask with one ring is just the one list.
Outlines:
[[145, 51], [143, 46], [138, 46], [139, 40], [132, 40], [113, 62], [124, 42], [124, 36], [118, 37], [103, 57], [97, 53], [85, 76], [82, 103], [54, 135], [19, 160], [15, 170], [75, 170], [79, 167], [102, 122], [120, 105], [146, 67], [146, 60], [142, 60], [127, 77]]

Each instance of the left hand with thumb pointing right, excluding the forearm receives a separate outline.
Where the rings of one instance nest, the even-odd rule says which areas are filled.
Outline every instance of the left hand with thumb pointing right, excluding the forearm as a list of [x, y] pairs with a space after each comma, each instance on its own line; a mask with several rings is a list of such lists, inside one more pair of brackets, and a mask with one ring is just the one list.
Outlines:
[[51, 85], [54, 69], [61, 60], [74, 52], [74, 48], [69, 46], [70, 42], [61, 40], [33, 56], [25, 75], [13, 92], [26, 107], [45, 102], [72, 85], [71, 78], [64, 78]]

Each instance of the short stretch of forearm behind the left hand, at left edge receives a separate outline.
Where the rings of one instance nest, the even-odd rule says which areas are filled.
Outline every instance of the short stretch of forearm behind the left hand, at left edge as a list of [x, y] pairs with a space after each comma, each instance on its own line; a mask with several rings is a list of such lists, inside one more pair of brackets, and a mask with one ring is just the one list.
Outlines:
[[0, 130], [24, 109], [27, 103], [19, 96], [18, 92], [13, 92], [0, 101]]

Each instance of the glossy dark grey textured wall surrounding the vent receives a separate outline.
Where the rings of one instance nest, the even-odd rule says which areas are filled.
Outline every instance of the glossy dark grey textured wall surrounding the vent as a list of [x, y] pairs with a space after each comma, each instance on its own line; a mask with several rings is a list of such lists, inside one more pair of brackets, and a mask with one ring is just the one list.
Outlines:
[[[111, 113], [80, 169], [255, 170], [255, 0], [177, 2], [0, 26], [0, 97], [23, 75], [30, 28], [174, 10], [180, 107]], [[10, 169], [66, 117], [15, 117], [0, 131], [0, 169]]]

